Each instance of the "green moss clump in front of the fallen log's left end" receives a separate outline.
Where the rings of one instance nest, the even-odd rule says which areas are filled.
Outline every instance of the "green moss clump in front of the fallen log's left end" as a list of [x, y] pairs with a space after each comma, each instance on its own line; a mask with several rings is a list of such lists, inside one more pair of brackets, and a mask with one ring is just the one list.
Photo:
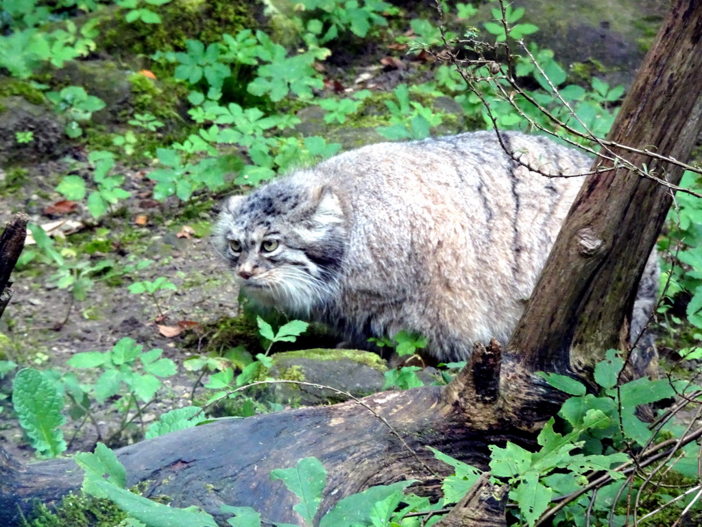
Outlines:
[[37, 503], [22, 527], [114, 527], [127, 517], [117, 505], [107, 499], [70, 493], [64, 496], [53, 512]]

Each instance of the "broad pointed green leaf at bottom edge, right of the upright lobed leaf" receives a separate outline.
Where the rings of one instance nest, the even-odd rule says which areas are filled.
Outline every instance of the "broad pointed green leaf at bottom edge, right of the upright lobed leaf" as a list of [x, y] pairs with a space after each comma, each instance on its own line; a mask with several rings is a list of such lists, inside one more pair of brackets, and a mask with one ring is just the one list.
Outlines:
[[371, 523], [371, 514], [376, 503], [386, 500], [398, 490], [404, 490], [416, 480], [398, 481], [392, 485], [378, 485], [362, 493], [344, 497], [324, 514], [319, 527], [355, 527]]

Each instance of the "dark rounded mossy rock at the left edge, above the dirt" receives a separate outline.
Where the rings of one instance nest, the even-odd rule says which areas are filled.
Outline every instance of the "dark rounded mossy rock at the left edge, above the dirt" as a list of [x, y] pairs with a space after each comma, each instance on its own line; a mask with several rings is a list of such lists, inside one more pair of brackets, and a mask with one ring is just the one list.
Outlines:
[[[45, 105], [21, 96], [0, 98], [0, 165], [32, 164], [55, 160], [68, 148], [62, 119]], [[32, 141], [18, 143], [18, 132], [32, 132]]]

